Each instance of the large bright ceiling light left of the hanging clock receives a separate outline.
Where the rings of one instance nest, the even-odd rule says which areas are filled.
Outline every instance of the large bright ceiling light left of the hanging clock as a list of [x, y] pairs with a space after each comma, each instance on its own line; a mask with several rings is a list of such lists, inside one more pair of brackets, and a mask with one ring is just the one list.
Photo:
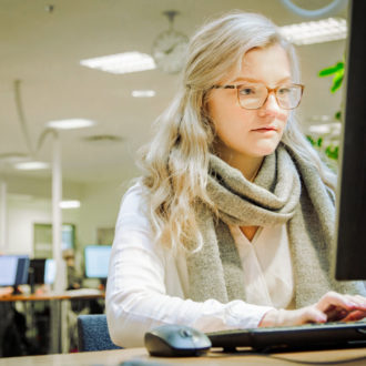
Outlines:
[[135, 51], [81, 60], [80, 64], [115, 74], [156, 69], [150, 54]]

